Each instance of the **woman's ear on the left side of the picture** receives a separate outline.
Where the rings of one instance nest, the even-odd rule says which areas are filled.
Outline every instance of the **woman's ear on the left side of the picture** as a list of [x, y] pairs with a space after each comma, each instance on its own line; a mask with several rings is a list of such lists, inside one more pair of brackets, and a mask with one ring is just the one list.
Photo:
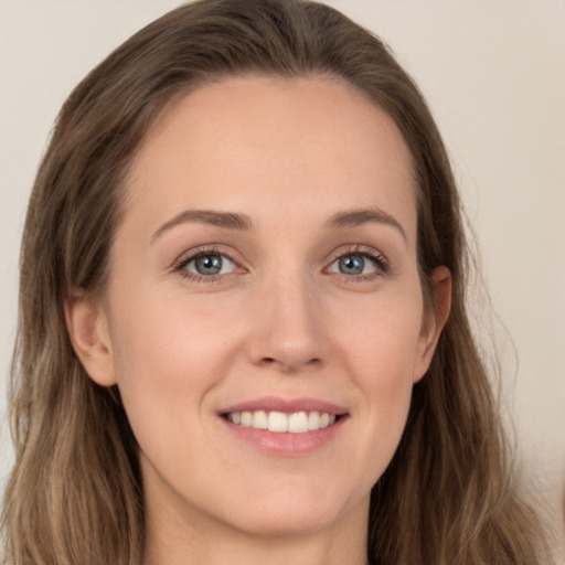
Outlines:
[[90, 379], [102, 386], [116, 384], [102, 300], [83, 290], [73, 291], [65, 299], [65, 318], [73, 349]]

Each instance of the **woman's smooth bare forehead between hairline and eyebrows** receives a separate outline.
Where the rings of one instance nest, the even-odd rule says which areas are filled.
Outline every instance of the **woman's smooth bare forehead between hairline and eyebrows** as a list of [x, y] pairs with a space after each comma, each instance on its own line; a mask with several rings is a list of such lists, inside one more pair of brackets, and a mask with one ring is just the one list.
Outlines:
[[234, 77], [175, 99], [156, 120], [134, 160], [128, 206], [148, 228], [182, 207], [321, 222], [384, 205], [415, 224], [414, 185], [398, 128], [353, 87]]

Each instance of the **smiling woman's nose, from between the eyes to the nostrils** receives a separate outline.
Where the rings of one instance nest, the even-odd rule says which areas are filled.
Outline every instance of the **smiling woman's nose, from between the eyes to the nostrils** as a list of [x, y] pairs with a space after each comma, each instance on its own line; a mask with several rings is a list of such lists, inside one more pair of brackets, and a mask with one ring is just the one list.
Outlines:
[[323, 364], [328, 343], [313, 282], [300, 274], [274, 278], [255, 296], [250, 309], [250, 361], [284, 373]]

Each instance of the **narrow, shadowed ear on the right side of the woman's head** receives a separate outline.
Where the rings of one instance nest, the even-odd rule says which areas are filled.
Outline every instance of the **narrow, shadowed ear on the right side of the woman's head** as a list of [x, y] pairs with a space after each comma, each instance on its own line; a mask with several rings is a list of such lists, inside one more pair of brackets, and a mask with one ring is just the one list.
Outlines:
[[436, 351], [441, 330], [451, 308], [451, 273], [445, 266], [437, 267], [431, 275], [431, 303], [426, 308], [418, 340], [418, 352], [414, 367], [414, 382], [426, 373]]

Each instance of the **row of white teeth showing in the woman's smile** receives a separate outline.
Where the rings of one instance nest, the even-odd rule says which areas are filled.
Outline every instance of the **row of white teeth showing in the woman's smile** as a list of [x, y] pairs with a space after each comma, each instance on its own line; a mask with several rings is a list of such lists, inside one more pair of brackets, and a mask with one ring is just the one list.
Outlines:
[[282, 412], [231, 412], [227, 419], [234, 424], [252, 427], [255, 429], [268, 429], [269, 431], [290, 434], [303, 434], [323, 429], [335, 423], [335, 414], [327, 412], [295, 412], [285, 414]]

